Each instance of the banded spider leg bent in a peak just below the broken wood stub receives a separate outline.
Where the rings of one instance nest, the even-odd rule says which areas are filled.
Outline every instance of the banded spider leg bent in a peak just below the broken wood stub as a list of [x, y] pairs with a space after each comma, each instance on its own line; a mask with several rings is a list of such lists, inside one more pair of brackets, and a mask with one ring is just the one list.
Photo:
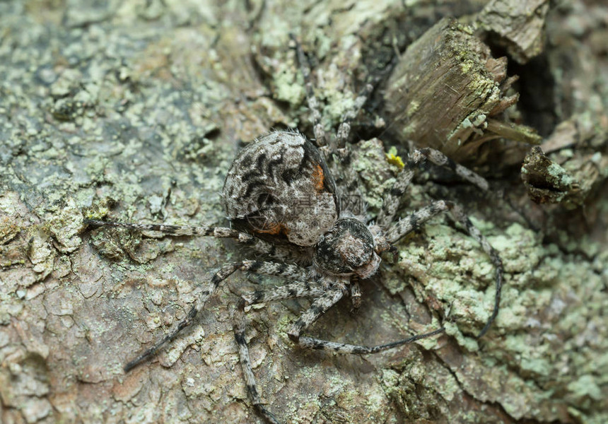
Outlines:
[[479, 187], [479, 189], [483, 190], [484, 192], [489, 190], [489, 184], [484, 177], [481, 177], [472, 170], [469, 170], [467, 167], [455, 163], [452, 159], [448, 158], [448, 156], [444, 155], [440, 151], [436, 151], [432, 148], [416, 149], [409, 155], [409, 160], [407, 160], [407, 163], [405, 163], [404, 170], [397, 176], [397, 181], [385, 196], [382, 210], [378, 214], [378, 223], [381, 226], [386, 227], [392, 222], [395, 213], [397, 213], [399, 203], [403, 198], [407, 187], [409, 187], [411, 179], [414, 178], [416, 165], [423, 163], [426, 160], [429, 160], [434, 165], [447, 167], [456, 175]]

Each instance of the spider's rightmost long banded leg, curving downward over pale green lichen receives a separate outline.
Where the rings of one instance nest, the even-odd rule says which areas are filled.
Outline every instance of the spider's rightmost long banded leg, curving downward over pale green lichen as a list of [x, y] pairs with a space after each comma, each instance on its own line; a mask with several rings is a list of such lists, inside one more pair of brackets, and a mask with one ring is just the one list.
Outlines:
[[411, 215], [407, 218], [394, 223], [389, 230], [387, 230], [386, 238], [390, 243], [397, 242], [397, 240], [416, 230], [419, 225], [433, 218], [433, 216], [437, 216], [439, 213], [447, 211], [450, 211], [455, 220], [464, 226], [469, 235], [479, 242], [481, 248], [484, 249], [484, 252], [486, 252], [486, 254], [490, 257], [492, 263], [496, 267], [496, 295], [494, 295], [494, 308], [489, 319], [486, 321], [484, 328], [481, 329], [477, 335], [477, 338], [479, 338], [486, 334], [492, 322], [494, 319], [496, 319], [496, 315], [498, 315], [498, 309], [501, 304], [501, 290], [503, 286], [503, 262], [498, 256], [496, 249], [490, 245], [486, 237], [484, 237], [484, 235], [482, 235], [481, 232], [473, 225], [467, 215], [464, 214], [464, 211], [462, 211], [462, 208], [451, 201], [434, 201], [429, 206], [421, 208], [419, 211], [411, 213]]

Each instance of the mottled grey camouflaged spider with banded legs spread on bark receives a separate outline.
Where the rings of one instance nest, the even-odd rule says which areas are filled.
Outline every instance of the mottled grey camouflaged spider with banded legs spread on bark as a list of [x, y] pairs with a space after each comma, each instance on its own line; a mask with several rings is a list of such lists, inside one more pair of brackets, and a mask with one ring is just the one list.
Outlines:
[[[327, 143], [327, 136], [320, 124], [317, 100], [312, 93], [310, 65], [303, 49], [295, 39], [293, 42], [305, 80], [316, 143], [298, 131], [274, 131], [243, 148], [230, 166], [223, 186], [223, 201], [231, 228], [86, 220], [93, 227], [155, 230], [174, 236], [228, 237], [264, 254], [267, 259], [274, 259], [242, 260], [222, 266], [206, 283], [200, 298], [185, 319], [151, 348], [124, 365], [124, 371], [129, 372], [155, 355], [165, 343], [172, 341], [182, 329], [192, 324], [218, 285], [235, 271], [285, 278], [288, 281], [286, 285], [242, 295], [235, 308], [233, 324], [240, 364], [252, 404], [260, 416], [273, 424], [279, 423], [279, 420], [262, 403], [252, 370], [245, 338], [245, 307], [290, 298], [310, 298], [310, 307], [293, 322], [288, 337], [304, 348], [337, 353], [378, 353], [441, 334], [445, 331], [444, 327], [371, 347], [302, 335], [305, 329], [347, 294], [351, 296], [353, 308], [358, 308], [361, 304], [359, 281], [378, 272], [382, 253], [395, 252], [394, 244], [398, 240], [427, 220], [446, 212], [451, 213], [469, 235], [479, 242], [496, 267], [493, 312], [477, 337], [486, 334], [498, 314], [503, 281], [503, 265], [496, 250], [457, 204], [451, 201], [433, 201], [406, 218], [395, 219], [399, 201], [414, 177], [416, 165], [426, 160], [448, 167], [477, 187], [488, 189], [485, 179], [454, 163], [443, 153], [430, 148], [411, 152], [394, 187], [385, 194], [384, 204], [375, 223], [342, 208], [342, 196], [357, 186], [357, 175], [349, 167], [351, 151], [346, 143], [350, 122], [366, 102], [373, 85], [367, 84], [363, 88], [353, 110], [344, 115], [334, 140]], [[339, 179], [334, 179], [330, 166], [340, 174]], [[346, 188], [340, 191], [337, 182]]]

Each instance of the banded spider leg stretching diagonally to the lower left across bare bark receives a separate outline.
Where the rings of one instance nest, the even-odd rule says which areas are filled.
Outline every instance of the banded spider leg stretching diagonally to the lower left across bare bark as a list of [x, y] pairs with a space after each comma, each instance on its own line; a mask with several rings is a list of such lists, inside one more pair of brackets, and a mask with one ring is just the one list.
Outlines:
[[187, 326], [192, 324], [194, 321], [194, 317], [197, 316], [201, 310], [203, 310], [207, 300], [214, 293], [216, 288], [218, 288], [219, 283], [226, 280], [230, 274], [237, 271], [238, 269], [242, 271], [252, 271], [255, 273], [270, 275], [270, 276], [283, 276], [291, 278], [293, 276], [301, 276], [305, 271], [296, 265], [289, 264], [276, 264], [274, 262], [266, 262], [266, 261], [241, 261], [234, 262], [232, 264], [226, 264], [221, 267], [219, 271], [214, 273], [214, 276], [211, 277], [211, 280], [206, 283], [204, 286], [201, 295], [194, 306], [189, 310], [185, 319], [182, 319], [181, 322], [175, 326], [175, 328], [170, 331], [167, 335], [160, 339], [160, 341], [156, 342], [154, 346], [144, 351], [141, 355], [139, 355], [134, 360], [131, 360], [127, 365], [124, 365], [124, 372], [129, 372], [134, 367], [139, 365], [140, 363], [148, 360], [153, 355], [156, 355], [158, 350], [168, 343], [172, 341], [177, 334], [180, 334], [182, 329], [185, 329]]

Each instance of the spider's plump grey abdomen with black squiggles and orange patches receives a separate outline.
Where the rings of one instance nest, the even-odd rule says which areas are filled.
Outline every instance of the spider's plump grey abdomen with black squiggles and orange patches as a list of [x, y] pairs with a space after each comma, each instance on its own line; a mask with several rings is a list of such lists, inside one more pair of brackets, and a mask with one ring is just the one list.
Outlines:
[[325, 160], [295, 131], [272, 132], [243, 148], [226, 175], [223, 199], [237, 227], [305, 247], [339, 215]]

